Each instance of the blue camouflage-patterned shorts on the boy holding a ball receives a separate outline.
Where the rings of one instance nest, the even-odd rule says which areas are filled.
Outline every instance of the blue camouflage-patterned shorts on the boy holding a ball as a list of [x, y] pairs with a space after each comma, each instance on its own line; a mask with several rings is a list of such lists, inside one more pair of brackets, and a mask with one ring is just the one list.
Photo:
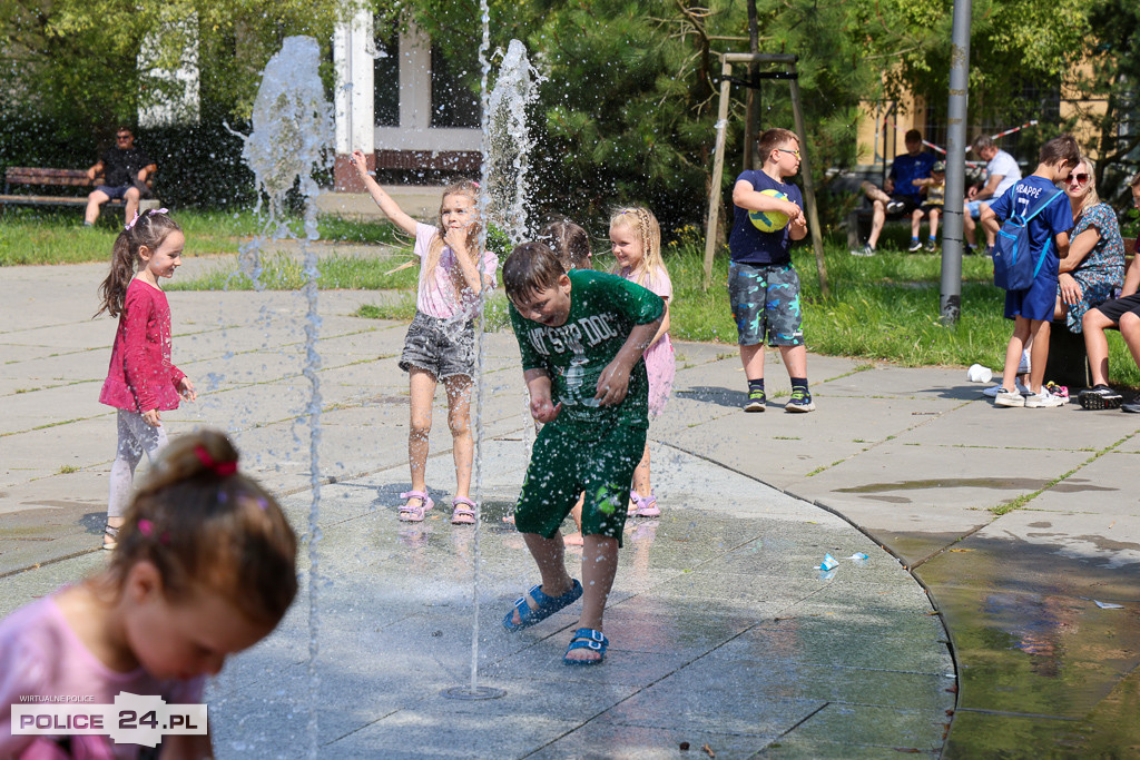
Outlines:
[[799, 276], [791, 264], [732, 262], [728, 265], [728, 303], [736, 320], [740, 345], [804, 344]]

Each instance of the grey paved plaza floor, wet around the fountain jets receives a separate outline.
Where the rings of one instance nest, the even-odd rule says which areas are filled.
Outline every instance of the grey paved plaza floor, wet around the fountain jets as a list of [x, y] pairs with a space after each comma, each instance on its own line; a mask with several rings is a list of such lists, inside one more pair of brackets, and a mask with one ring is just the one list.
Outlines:
[[[103, 267], [5, 273], [0, 613], [103, 562], [92, 547], [114, 450], [96, 400], [114, 321], [89, 319]], [[302, 598], [212, 685], [221, 757], [296, 757], [312, 741], [326, 757], [685, 757], [682, 742], [718, 757], [1140, 749], [1140, 418], [999, 410], [964, 369], [815, 356], [819, 409], [785, 415], [771, 354], [769, 408], [744, 415], [726, 345], [677, 348], [675, 394], [650, 431], [665, 514], [627, 525], [610, 661], [571, 671], [559, 660], [573, 615], [513, 636], [498, 627], [537, 581], [499, 520], [532, 433], [513, 337], [488, 336], [478, 672], [506, 696], [445, 700], [471, 679], [472, 530], [439, 508], [422, 531], [396, 521], [405, 326], [349, 316], [377, 297], [320, 294], [319, 683]], [[303, 532], [301, 296], [170, 301], [176, 362], [202, 392], [164, 415], [170, 432], [228, 430]], [[445, 419], [438, 406], [429, 483], [442, 500]], [[813, 569], [825, 551], [840, 558], [830, 579]], [[842, 558], [857, 551], [865, 564]]]

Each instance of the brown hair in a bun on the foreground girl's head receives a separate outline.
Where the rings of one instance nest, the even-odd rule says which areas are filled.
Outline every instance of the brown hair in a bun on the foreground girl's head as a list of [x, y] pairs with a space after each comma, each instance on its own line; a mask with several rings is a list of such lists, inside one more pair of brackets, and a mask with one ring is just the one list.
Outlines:
[[170, 442], [119, 531], [107, 569], [116, 591], [131, 566], [149, 562], [171, 602], [205, 589], [253, 623], [277, 624], [296, 596], [296, 536], [237, 458], [217, 431]]

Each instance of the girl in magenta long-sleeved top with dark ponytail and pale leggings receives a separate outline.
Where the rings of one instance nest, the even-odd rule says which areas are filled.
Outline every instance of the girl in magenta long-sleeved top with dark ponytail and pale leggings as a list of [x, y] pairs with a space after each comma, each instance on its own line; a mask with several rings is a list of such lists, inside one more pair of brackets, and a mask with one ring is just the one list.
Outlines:
[[130, 501], [135, 468], [145, 451], [154, 464], [166, 446], [160, 411], [193, 401], [194, 383], [170, 361], [170, 304], [158, 280], [173, 277], [182, 263], [186, 237], [165, 209], [135, 216], [115, 239], [111, 273], [99, 287], [103, 307], [119, 317], [107, 379], [99, 401], [119, 410], [119, 443], [111, 465], [111, 496], [103, 548], [115, 548]]

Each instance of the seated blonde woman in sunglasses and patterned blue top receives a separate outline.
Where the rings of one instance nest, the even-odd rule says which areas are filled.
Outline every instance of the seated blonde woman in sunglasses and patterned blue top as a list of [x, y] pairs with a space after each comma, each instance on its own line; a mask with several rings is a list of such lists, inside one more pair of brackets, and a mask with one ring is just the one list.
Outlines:
[[1116, 212], [1097, 195], [1092, 162], [1082, 156], [1065, 182], [1076, 226], [1057, 278], [1054, 319], [1081, 332], [1084, 313], [1112, 299], [1124, 284], [1124, 240]]

